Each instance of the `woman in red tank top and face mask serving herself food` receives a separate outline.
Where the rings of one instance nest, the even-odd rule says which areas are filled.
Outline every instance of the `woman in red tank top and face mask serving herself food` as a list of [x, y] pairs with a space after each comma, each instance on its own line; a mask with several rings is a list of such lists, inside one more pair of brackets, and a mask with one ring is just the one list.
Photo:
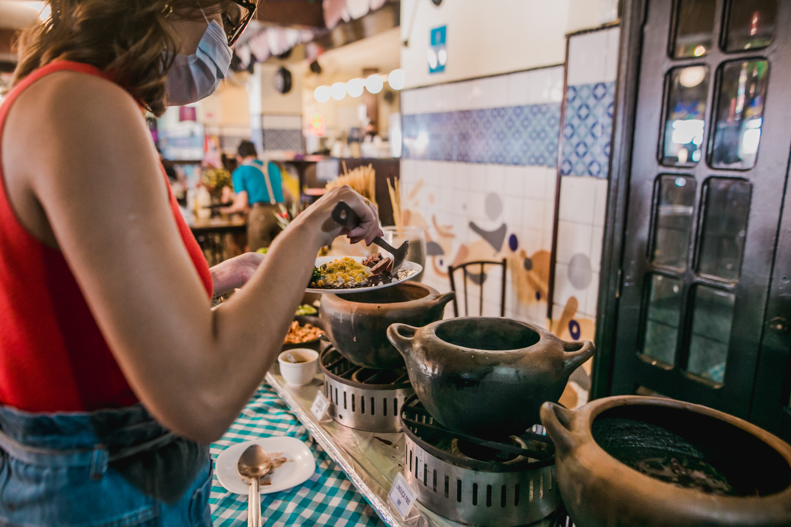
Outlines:
[[206, 525], [206, 445], [262, 382], [317, 251], [371, 243], [377, 210], [332, 190], [260, 265], [208, 269], [142, 109], [213, 92], [251, 2], [51, 4], [0, 105], [0, 523]]

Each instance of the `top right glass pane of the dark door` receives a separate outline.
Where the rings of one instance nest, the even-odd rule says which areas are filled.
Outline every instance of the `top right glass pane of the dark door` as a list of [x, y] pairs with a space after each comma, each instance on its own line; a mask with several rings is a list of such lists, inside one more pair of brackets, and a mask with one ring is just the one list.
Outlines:
[[774, 36], [778, 0], [732, 0], [725, 51], [766, 47]]

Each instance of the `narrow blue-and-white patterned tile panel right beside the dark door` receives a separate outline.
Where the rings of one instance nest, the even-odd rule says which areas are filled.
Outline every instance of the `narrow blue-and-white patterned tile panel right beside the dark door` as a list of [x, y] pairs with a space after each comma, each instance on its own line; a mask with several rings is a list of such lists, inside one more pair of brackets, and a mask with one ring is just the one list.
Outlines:
[[607, 179], [615, 82], [569, 86], [560, 171]]

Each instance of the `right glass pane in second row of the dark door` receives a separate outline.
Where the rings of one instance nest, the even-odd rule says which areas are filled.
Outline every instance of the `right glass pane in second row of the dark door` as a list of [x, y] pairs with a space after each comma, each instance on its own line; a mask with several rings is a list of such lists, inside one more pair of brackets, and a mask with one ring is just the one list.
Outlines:
[[753, 168], [763, 125], [769, 63], [725, 62], [720, 67], [720, 94], [711, 152], [713, 168]]

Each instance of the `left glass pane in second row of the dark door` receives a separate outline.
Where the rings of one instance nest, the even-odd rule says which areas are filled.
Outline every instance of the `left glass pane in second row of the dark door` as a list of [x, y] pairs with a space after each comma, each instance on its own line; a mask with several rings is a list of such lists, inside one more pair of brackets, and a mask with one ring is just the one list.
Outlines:
[[700, 160], [706, 123], [708, 66], [675, 68], [668, 73], [662, 164], [691, 166]]

